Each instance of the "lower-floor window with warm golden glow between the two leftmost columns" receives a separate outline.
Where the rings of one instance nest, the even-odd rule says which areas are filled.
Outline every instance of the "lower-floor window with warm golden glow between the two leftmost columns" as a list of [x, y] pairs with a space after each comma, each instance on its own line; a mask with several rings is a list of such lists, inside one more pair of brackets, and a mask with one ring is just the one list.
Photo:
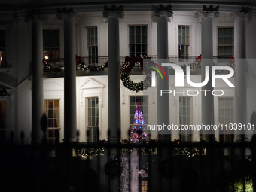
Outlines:
[[44, 112], [47, 116], [47, 142], [59, 143], [59, 99], [45, 99]]

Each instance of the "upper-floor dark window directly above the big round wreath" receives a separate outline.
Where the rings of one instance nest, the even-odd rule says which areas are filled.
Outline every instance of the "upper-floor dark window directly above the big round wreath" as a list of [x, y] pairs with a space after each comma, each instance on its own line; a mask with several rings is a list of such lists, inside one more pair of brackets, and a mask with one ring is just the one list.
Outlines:
[[147, 26], [129, 26], [130, 56], [146, 56], [148, 54]]

